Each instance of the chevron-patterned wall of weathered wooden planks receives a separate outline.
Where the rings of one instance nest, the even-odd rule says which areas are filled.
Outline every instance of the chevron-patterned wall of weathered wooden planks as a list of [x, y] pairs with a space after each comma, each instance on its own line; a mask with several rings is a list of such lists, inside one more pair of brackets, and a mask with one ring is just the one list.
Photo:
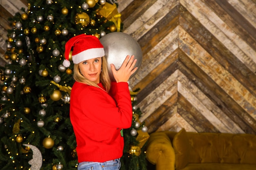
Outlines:
[[[1, 21], [18, 2], [26, 4], [0, 0]], [[256, 134], [256, 0], [117, 2], [124, 32], [143, 51], [129, 82], [140, 88], [137, 106], [149, 133]], [[7, 25], [0, 23], [2, 54]]]

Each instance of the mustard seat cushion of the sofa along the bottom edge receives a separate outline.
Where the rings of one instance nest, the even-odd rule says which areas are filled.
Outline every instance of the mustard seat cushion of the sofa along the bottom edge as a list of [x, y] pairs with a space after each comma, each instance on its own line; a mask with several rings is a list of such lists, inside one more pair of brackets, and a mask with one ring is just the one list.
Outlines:
[[256, 170], [256, 164], [189, 163], [182, 170]]

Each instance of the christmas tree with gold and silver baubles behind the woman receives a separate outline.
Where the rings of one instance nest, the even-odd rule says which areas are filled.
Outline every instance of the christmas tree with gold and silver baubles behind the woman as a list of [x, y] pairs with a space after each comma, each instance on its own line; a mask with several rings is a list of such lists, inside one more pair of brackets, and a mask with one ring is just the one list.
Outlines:
[[[28, 9], [21, 11], [10, 19], [7, 64], [0, 71], [1, 169], [76, 170], [76, 140], [69, 119], [73, 65], [62, 65], [65, 43], [81, 33], [101, 38], [121, 31], [117, 4], [28, 0]], [[147, 129], [139, 122], [135, 92], [131, 99], [134, 121], [124, 130], [121, 169], [145, 170]]]

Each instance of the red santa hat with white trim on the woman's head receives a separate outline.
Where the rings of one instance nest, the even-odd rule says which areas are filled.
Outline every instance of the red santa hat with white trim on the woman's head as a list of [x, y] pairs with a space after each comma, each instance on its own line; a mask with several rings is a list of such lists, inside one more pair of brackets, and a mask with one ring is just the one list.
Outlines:
[[72, 60], [74, 64], [105, 55], [103, 45], [97, 37], [85, 34], [76, 35], [65, 44], [65, 60], [63, 61], [63, 66], [65, 67], [70, 66], [68, 59], [72, 47]]

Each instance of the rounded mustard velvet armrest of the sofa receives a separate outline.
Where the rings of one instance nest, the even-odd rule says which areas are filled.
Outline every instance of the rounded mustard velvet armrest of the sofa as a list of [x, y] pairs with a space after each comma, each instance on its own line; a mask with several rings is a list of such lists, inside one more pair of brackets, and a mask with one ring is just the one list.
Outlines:
[[146, 158], [150, 163], [156, 165], [157, 170], [175, 170], [175, 153], [171, 140], [165, 132], [150, 134]]

